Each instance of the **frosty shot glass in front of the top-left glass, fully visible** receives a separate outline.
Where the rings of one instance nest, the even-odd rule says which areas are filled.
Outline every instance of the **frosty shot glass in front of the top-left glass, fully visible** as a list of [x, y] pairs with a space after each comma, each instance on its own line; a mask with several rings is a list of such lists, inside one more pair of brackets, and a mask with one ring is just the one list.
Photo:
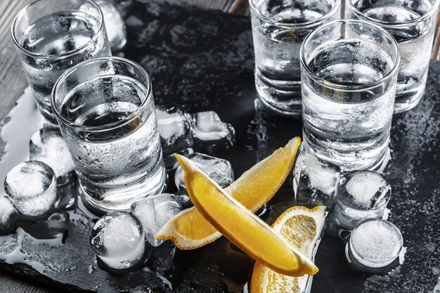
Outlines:
[[58, 79], [52, 105], [92, 211], [129, 209], [162, 192], [152, 86], [141, 66], [124, 58], [86, 60]]

